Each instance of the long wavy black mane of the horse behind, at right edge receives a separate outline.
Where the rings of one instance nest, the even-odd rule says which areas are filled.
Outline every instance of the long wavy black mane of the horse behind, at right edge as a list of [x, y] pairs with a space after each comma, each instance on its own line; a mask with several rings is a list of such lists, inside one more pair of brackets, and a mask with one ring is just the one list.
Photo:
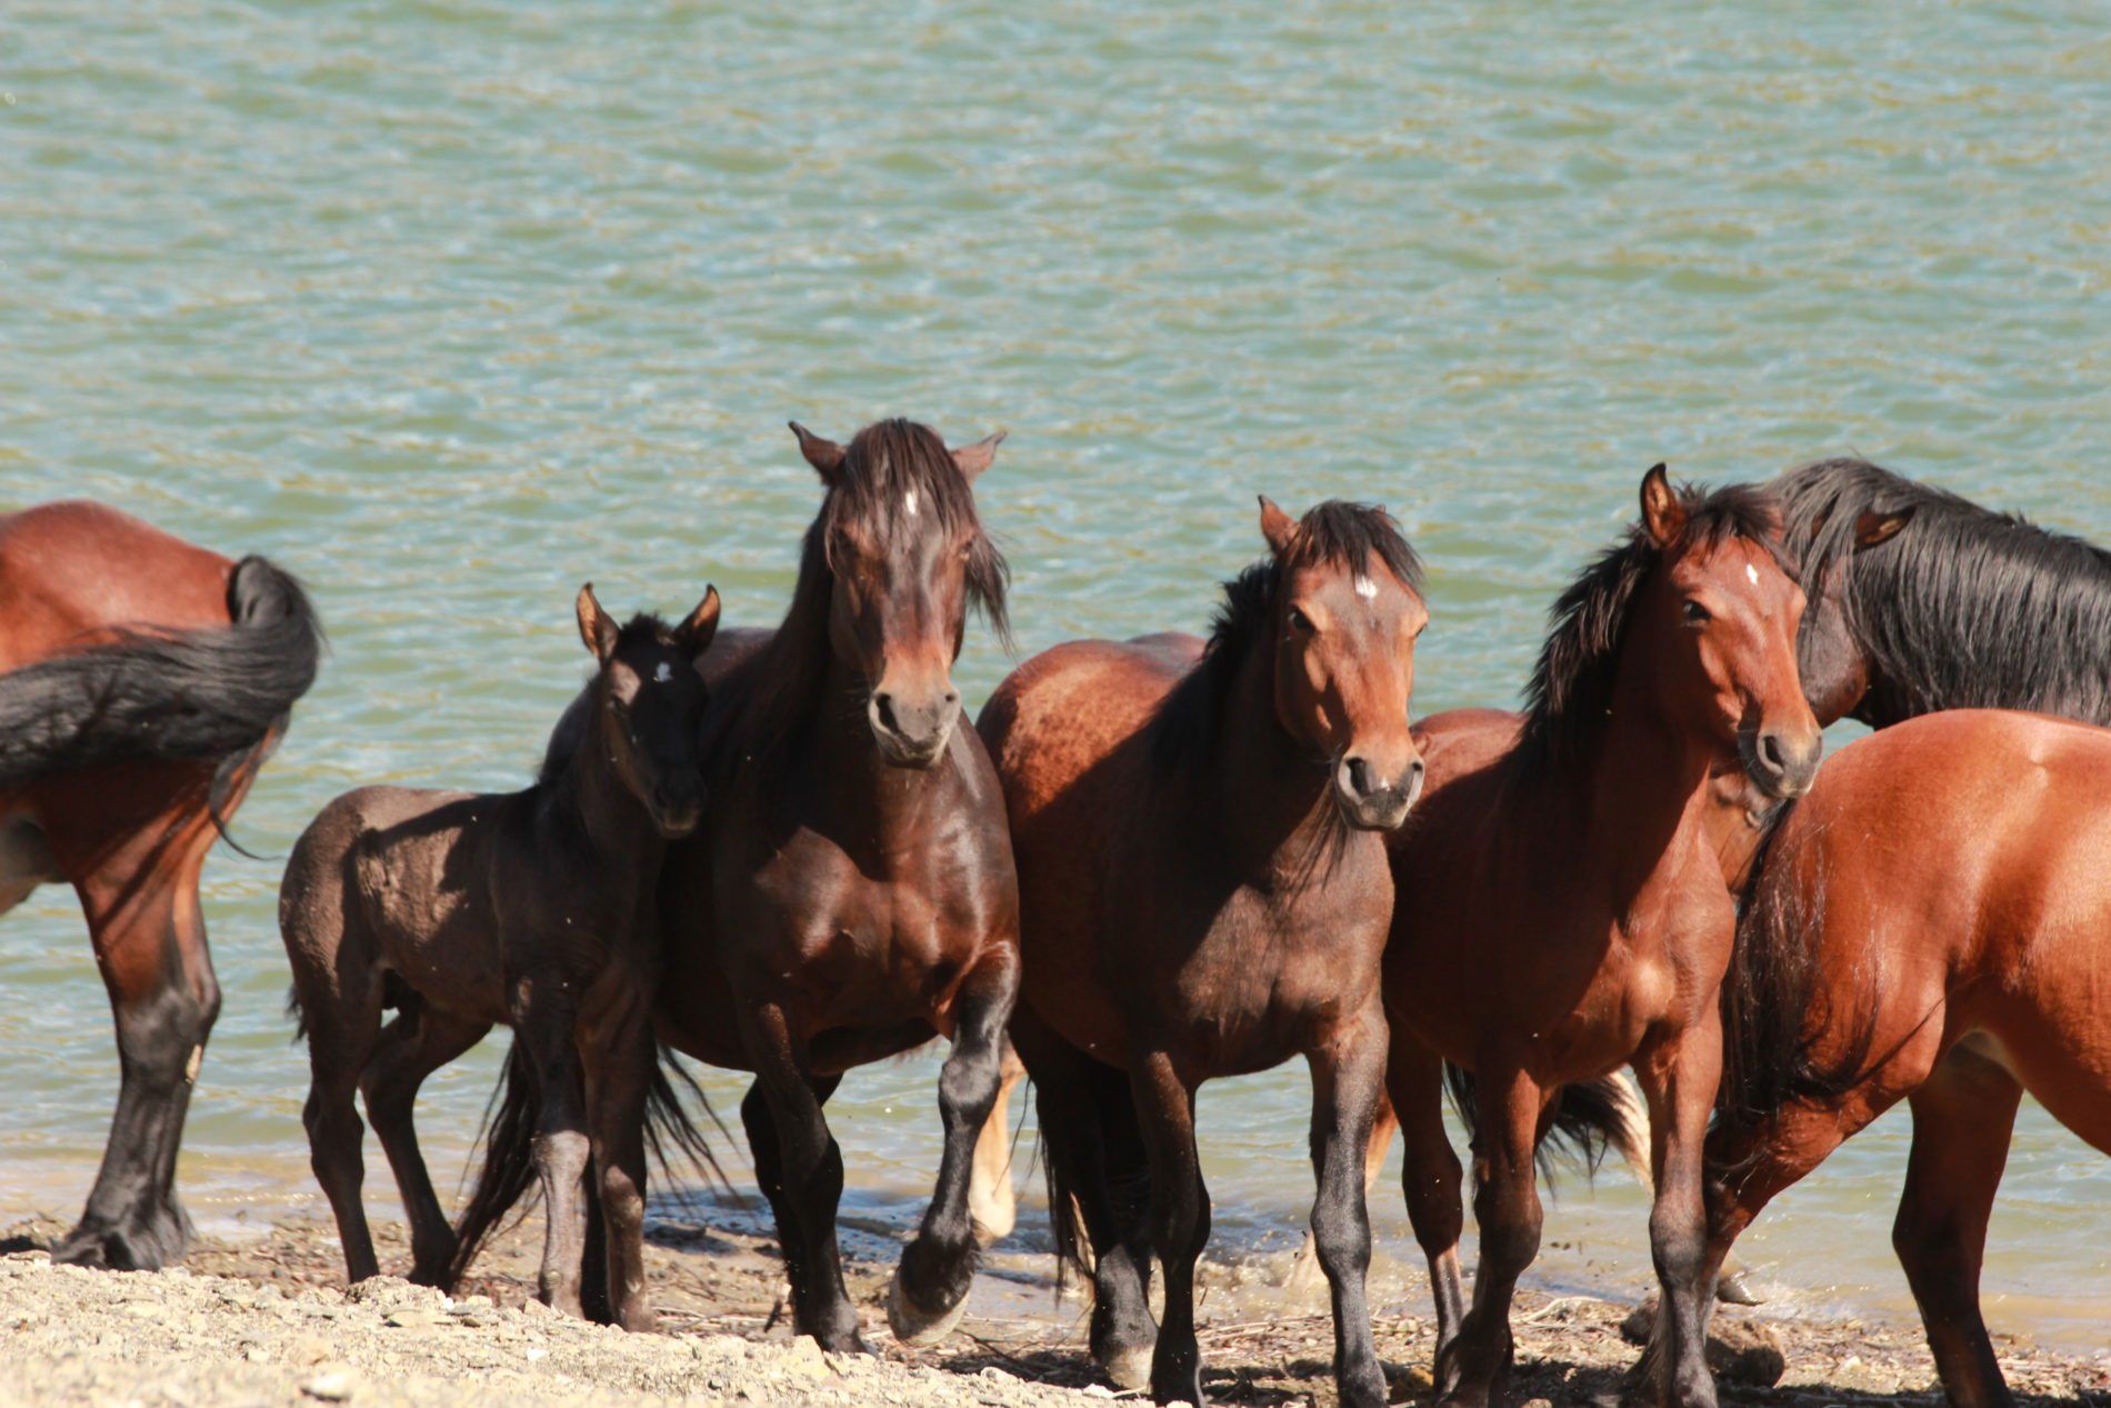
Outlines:
[[[1845, 564], [1847, 627], [1898, 709], [1881, 722], [1999, 707], [2111, 724], [2111, 553], [1868, 460], [1773, 488], [1803, 578]], [[1862, 513], [1908, 509], [1889, 543], [1856, 551]]]

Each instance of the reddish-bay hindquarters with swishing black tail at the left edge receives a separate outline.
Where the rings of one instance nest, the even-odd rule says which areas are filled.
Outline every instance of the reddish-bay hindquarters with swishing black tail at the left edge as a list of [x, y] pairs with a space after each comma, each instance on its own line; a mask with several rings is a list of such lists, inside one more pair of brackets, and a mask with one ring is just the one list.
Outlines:
[[74, 887], [122, 1070], [103, 1167], [57, 1260], [184, 1256], [175, 1153], [220, 1013], [198, 872], [321, 642], [300, 585], [262, 557], [230, 562], [93, 502], [0, 517], [0, 910]]

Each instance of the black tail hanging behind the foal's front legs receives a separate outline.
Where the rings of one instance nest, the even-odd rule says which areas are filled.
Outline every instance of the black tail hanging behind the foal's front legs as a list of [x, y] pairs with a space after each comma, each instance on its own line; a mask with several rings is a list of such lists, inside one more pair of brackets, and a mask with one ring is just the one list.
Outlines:
[[[695, 1077], [663, 1045], [659, 1066], [652, 1070], [652, 1087], [646, 1093], [646, 1148], [652, 1153], [652, 1163], [669, 1184], [673, 1184], [676, 1159], [680, 1159], [697, 1172], [707, 1172], [709, 1180], [730, 1191], [733, 1182], [720, 1167], [718, 1155], [711, 1153], [709, 1140], [682, 1108], [682, 1089], [688, 1089], [718, 1125], [718, 1131], [726, 1134], [726, 1123], [718, 1119], [718, 1110], [711, 1108]], [[483, 1110], [483, 1169], [477, 1174], [477, 1186], [454, 1229], [454, 1260], [448, 1262], [443, 1281], [448, 1290], [460, 1286], [469, 1264], [500, 1229], [507, 1214], [536, 1191], [534, 1140], [540, 1125], [543, 1087], [526, 1049], [515, 1041], [498, 1087]]]

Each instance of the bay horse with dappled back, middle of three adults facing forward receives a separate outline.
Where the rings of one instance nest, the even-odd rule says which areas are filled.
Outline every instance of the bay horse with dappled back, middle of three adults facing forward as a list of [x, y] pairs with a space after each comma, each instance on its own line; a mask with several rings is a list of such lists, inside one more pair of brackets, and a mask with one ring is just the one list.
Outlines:
[[1056, 646], [982, 713], [1024, 901], [1013, 1041], [1039, 1089], [1058, 1248], [1083, 1262], [1072, 1199], [1091, 1243], [1091, 1353], [1115, 1383], [1191, 1404], [1210, 1235], [1195, 1089], [1302, 1055], [1334, 1372], [1345, 1404], [1383, 1404], [1364, 1305], [1393, 908], [1376, 834], [1421, 792], [1408, 695], [1429, 614], [1383, 509], [1292, 521], [1262, 500], [1260, 526], [1269, 557], [1226, 587], [1207, 646]]

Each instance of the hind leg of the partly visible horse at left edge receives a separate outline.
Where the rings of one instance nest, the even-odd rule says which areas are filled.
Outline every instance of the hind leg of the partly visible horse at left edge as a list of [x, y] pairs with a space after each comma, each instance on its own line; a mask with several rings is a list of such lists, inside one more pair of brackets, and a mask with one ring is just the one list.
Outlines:
[[198, 910], [207, 844], [175, 827], [120, 846], [74, 884], [116, 1013], [120, 1087], [89, 1205], [55, 1260], [154, 1271], [182, 1260], [190, 1241], [190, 1218], [175, 1201], [175, 1153], [220, 1015]]

